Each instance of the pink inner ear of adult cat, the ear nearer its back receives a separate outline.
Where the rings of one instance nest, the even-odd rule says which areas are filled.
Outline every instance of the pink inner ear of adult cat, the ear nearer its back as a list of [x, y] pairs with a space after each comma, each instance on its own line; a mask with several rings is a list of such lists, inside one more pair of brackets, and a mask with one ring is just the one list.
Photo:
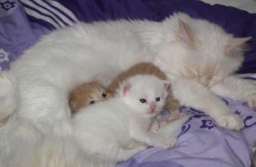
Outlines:
[[178, 38], [182, 39], [182, 41], [185, 42], [187, 46], [194, 48], [194, 33], [190, 26], [186, 24], [186, 22], [183, 22], [180, 18], [178, 19], [178, 26]]

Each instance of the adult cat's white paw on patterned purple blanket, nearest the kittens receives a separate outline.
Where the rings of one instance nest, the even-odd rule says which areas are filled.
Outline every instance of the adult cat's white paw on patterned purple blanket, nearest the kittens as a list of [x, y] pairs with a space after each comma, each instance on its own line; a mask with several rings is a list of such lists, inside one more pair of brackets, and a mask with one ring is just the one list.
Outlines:
[[219, 126], [227, 129], [239, 130], [243, 127], [242, 117], [234, 113], [224, 114], [216, 119]]

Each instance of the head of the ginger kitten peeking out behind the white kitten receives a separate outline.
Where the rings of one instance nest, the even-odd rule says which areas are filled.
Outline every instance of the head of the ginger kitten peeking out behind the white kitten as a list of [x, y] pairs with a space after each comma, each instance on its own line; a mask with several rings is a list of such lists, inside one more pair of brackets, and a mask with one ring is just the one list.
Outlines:
[[74, 114], [78, 109], [93, 105], [98, 101], [105, 101], [111, 96], [110, 90], [106, 89], [98, 80], [78, 85], [70, 91], [69, 104], [71, 113]]

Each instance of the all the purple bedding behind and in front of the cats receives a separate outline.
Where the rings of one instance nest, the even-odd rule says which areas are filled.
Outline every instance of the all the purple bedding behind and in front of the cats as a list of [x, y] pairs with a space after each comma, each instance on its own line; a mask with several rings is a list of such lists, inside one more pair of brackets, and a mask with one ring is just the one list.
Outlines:
[[[1, 0], [0, 67], [8, 70], [10, 62], [42, 35], [78, 21], [119, 18], [161, 21], [182, 11], [214, 22], [236, 37], [252, 36], [251, 50], [237, 73], [256, 84], [255, 6], [256, 2], [250, 0], [240, 4], [234, 0]], [[249, 167], [256, 141], [256, 112], [246, 103], [228, 97], [222, 100], [243, 118], [244, 128], [240, 132], [219, 128], [202, 111], [182, 106], [181, 112], [190, 114], [190, 118], [178, 129], [178, 143], [173, 149], [149, 148], [119, 162], [118, 167]]]

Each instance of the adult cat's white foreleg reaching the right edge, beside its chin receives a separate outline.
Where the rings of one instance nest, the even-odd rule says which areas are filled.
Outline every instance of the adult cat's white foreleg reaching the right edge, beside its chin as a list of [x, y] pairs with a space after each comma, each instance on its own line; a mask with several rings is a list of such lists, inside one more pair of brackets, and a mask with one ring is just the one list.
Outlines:
[[222, 97], [231, 97], [256, 109], [256, 85], [255, 82], [248, 81], [236, 76], [225, 78], [210, 87], [210, 90]]

